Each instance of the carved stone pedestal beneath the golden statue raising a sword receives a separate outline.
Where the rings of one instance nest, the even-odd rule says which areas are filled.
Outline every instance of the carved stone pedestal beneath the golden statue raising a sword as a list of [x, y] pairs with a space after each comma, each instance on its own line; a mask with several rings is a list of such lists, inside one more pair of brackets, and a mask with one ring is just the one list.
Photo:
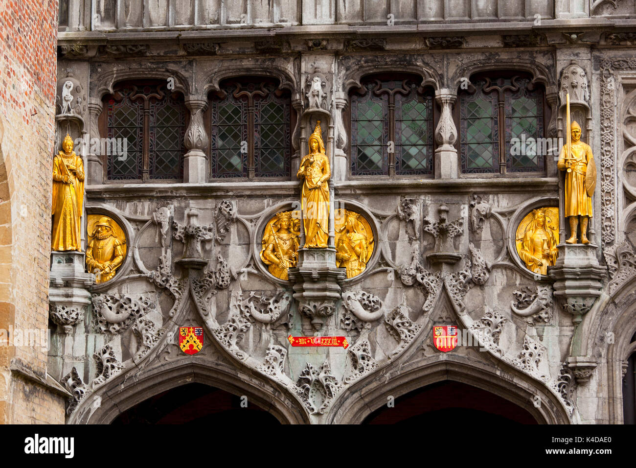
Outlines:
[[581, 322], [590, 311], [602, 290], [605, 269], [598, 264], [594, 244], [565, 244], [557, 246], [558, 257], [548, 274], [555, 280], [554, 296], [563, 309], [572, 315], [572, 322]]

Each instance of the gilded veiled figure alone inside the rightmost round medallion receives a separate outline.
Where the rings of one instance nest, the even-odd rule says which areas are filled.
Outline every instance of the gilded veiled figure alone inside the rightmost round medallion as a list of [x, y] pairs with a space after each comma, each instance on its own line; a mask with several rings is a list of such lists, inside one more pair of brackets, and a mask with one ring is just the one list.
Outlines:
[[539, 208], [532, 211], [532, 221], [518, 236], [521, 241], [519, 256], [532, 273], [548, 274], [548, 266], [554, 266], [558, 249], [556, 238], [548, 227], [548, 210]]

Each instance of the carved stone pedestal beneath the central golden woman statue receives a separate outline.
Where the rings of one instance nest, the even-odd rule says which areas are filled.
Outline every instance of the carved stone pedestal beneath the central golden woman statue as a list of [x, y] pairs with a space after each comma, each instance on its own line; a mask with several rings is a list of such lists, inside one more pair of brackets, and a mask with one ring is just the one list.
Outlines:
[[326, 318], [333, 315], [340, 300], [340, 282], [347, 277], [336, 267], [334, 248], [301, 248], [298, 264], [288, 270], [294, 283], [294, 299], [298, 310], [307, 315], [315, 330], [320, 330]]

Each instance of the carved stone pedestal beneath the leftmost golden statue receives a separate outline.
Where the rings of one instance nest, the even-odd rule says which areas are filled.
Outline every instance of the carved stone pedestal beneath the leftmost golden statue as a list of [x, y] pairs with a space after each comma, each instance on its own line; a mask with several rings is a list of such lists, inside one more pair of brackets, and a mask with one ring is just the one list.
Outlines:
[[52, 252], [49, 297], [49, 314], [53, 323], [71, 334], [73, 326], [84, 319], [95, 282], [95, 275], [84, 271], [83, 252]]

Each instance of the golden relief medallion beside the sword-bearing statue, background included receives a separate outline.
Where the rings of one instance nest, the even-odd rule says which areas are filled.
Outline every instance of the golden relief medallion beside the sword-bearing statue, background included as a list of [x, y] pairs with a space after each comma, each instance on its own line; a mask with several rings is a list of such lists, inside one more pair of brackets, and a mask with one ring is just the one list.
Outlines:
[[532, 210], [519, 224], [516, 248], [532, 273], [548, 274], [558, 255], [558, 208]]

